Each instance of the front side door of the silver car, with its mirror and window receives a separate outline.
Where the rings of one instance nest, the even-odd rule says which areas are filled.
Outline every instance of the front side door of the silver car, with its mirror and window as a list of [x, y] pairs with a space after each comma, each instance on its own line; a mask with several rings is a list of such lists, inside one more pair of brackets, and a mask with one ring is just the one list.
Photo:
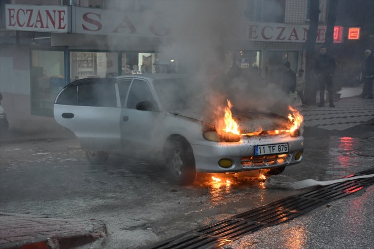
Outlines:
[[160, 114], [149, 82], [134, 78], [121, 113], [122, 147], [139, 153], [154, 147]]

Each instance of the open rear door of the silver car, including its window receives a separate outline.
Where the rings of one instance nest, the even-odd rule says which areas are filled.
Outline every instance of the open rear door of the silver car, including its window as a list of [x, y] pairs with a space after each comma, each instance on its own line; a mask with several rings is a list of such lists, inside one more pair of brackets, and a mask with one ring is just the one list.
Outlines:
[[121, 107], [116, 82], [114, 78], [77, 80], [56, 97], [55, 119], [77, 136], [82, 150], [121, 150]]

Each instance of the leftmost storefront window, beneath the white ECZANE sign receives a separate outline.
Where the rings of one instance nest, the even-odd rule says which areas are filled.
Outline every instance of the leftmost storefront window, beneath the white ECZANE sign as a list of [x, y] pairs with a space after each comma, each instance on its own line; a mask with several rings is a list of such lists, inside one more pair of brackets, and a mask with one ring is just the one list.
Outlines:
[[31, 51], [31, 113], [53, 116], [57, 93], [65, 86], [63, 51]]

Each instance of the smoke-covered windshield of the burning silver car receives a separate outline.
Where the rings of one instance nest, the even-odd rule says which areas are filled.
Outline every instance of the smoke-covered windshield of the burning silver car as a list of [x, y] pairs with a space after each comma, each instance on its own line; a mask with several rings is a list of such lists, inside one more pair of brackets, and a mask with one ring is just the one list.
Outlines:
[[153, 82], [160, 102], [168, 112], [179, 113], [188, 108], [185, 97], [189, 90], [187, 79], [157, 79]]

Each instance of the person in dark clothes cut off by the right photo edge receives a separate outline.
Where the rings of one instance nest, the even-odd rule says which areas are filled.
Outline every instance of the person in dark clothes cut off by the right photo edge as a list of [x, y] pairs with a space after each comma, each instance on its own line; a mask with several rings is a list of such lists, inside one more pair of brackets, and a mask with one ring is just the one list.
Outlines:
[[372, 80], [374, 79], [374, 57], [369, 49], [364, 52], [365, 60], [362, 63], [361, 80], [363, 81], [362, 98], [373, 98]]

